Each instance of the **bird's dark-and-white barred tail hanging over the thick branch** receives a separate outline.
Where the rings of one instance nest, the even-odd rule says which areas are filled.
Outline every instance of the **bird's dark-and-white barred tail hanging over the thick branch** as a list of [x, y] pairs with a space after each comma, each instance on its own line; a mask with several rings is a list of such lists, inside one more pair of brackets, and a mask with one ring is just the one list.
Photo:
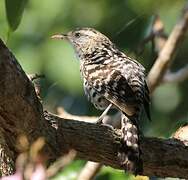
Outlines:
[[135, 175], [142, 172], [141, 151], [139, 148], [140, 133], [137, 124], [138, 117], [138, 115], [128, 117], [122, 113], [122, 147], [119, 152], [122, 167], [127, 172]]

